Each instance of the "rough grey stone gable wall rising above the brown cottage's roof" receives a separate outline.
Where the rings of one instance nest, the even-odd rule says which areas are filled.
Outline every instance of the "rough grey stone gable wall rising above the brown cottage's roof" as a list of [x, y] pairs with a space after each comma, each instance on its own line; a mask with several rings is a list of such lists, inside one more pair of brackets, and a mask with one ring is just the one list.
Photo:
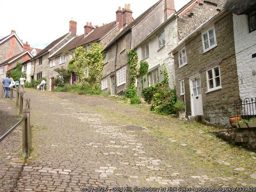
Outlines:
[[201, 0], [191, 9], [181, 13], [178, 16], [178, 41], [185, 38], [207, 19], [218, 14], [222, 10], [224, 2], [224, 0]]

